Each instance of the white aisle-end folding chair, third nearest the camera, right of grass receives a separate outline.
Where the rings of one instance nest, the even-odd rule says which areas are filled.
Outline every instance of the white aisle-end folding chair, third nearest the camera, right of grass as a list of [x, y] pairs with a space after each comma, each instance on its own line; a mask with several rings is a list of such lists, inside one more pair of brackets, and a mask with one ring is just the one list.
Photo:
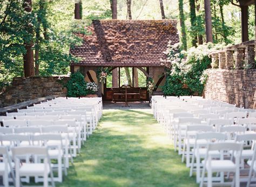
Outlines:
[[[187, 125], [186, 126], [186, 134], [183, 141], [183, 154], [182, 154], [182, 162], [184, 162], [184, 157], [186, 155], [186, 167], [190, 167], [190, 155], [192, 154], [191, 148], [193, 148], [194, 143], [196, 141], [196, 134], [200, 132], [212, 132], [212, 126], [208, 125]], [[197, 142], [198, 144], [206, 145], [207, 141], [201, 140]]]

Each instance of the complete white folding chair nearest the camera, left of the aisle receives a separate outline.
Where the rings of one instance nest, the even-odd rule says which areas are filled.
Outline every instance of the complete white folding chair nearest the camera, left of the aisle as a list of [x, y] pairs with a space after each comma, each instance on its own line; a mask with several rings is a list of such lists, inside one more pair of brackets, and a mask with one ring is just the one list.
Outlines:
[[[50, 174], [51, 185], [55, 187], [47, 147], [36, 147], [36, 146], [14, 147], [11, 149], [11, 151], [15, 160], [16, 186], [21, 186], [20, 177], [35, 176], [35, 177], [43, 177], [44, 187], [47, 187], [48, 175]], [[30, 156], [44, 157], [44, 162], [43, 163], [26, 162], [26, 163], [23, 163], [21, 166], [20, 165], [21, 157], [23, 157], [24, 155], [27, 155], [29, 157]]]

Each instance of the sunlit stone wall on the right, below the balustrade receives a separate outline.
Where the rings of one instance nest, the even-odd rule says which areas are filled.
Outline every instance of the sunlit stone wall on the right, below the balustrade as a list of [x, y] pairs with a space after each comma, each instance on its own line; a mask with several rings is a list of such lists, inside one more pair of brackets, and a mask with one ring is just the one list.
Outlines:
[[256, 69], [208, 70], [205, 98], [255, 109]]

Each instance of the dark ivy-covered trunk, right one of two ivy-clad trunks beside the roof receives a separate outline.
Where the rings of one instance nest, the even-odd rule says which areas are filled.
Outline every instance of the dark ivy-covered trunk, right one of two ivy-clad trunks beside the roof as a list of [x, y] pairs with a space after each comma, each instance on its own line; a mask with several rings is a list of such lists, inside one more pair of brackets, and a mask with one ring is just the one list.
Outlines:
[[195, 27], [197, 26], [197, 16], [196, 16], [196, 4], [194, 0], [190, 0], [190, 23], [191, 23], [191, 38], [192, 46], [197, 46], [197, 32]]

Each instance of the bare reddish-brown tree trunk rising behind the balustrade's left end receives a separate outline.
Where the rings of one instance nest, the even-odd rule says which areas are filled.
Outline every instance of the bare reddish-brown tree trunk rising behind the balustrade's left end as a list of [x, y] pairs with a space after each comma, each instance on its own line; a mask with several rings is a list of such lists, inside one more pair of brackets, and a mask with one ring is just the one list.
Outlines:
[[213, 42], [212, 38], [212, 13], [211, 13], [211, 1], [204, 0], [205, 2], [205, 34], [206, 42]]

